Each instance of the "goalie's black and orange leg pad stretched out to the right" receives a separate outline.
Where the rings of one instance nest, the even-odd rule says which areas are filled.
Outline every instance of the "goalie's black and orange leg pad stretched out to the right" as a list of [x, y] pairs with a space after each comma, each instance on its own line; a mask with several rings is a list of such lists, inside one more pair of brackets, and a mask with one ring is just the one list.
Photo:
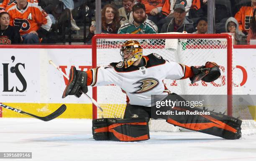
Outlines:
[[[175, 94], [177, 100], [184, 99], [179, 95]], [[226, 139], [238, 139], [241, 137], [241, 123], [242, 121], [226, 116], [221, 113], [216, 113], [212, 111], [205, 111], [200, 108], [190, 108], [190, 107], [174, 107], [172, 108], [174, 113], [179, 111], [189, 111], [196, 113], [206, 113], [206, 114], [185, 114], [185, 115], [170, 115], [166, 122], [173, 124], [174, 126], [179, 126], [182, 128], [187, 128], [193, 131], [199, 131], [202, 133], [207, 133], [214, 136], [219, 136]], [[207, 113], [210, 113], [208, 115]]]

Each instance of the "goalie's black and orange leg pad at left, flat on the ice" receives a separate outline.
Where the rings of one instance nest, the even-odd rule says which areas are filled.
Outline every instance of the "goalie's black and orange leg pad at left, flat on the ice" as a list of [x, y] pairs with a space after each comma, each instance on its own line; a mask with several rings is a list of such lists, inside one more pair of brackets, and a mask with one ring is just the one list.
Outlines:
[[148, 140], [148, 118], [100, 118], [92, 120], [95, 140], [143, 141]]

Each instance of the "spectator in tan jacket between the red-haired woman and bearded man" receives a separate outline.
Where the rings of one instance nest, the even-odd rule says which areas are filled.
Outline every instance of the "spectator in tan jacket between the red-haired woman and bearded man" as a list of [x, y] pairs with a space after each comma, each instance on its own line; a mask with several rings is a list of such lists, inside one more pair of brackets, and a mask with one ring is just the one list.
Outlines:
[[131, 23], [133, 21], [134, 0], [122, 0], [123, 7], [119, 8], [120, 24]]

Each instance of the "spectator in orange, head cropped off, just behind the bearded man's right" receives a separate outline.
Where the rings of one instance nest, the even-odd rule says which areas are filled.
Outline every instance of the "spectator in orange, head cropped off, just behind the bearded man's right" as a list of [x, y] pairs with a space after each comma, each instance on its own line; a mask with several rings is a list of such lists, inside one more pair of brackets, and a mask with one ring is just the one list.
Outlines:
[[169, 0], [136, 0], [138, 3], [143, 3], [146, 8], [148, 20], [153, 21], [155, 24], [165, 16], [161, 14], [162, 7], [166, 1]]

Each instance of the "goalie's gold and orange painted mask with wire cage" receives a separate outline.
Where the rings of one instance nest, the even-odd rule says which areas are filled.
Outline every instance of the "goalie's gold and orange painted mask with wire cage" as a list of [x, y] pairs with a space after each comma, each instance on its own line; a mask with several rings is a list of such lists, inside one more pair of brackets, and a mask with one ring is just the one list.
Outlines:
[[131, 66], [136, 60], [142, 57], [142, 48], [138, 41], [128, 40], [120, 49], [125, 68]]

